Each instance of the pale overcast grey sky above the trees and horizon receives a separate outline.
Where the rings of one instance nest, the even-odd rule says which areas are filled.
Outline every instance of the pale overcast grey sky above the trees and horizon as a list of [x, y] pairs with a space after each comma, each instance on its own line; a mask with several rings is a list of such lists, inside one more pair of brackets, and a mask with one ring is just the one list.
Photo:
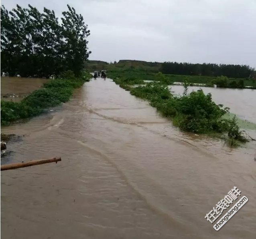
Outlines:
[[256, 0], [2, 0], [57, 16], [66, 4], [91, 30], [91, 60], [249, 64], [256, 68]]

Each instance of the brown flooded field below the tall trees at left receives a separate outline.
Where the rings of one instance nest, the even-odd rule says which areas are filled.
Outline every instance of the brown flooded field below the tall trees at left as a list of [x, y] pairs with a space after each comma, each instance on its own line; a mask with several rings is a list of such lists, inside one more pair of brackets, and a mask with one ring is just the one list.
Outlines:
[[1, 76], [1, 100], [20, 101], [47, 79]]

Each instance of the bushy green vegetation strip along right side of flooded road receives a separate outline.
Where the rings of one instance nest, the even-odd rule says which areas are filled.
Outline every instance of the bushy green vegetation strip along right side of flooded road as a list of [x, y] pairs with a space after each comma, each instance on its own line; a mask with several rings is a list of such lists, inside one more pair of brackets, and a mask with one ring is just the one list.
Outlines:
[[[182, 96], [171, 93], [166, 84], [161, 82], [149, 82], [144, 86], [132, 87], [132, 83], [138, 84], [133, 78], [119, 78], [114, 80], [120, 87], [129, 90], [130, 94], [148, 100], [150, 105], [169, 117], [173, 124], [183, 131], [194, 133], [219, 133], [230, 146], [238, 146], [238, 142], [246, 142], [242, 131], [238, 127], [237, 119], [223, 118], [229, 112], [229, 108], [215, 104], [211, 94], [204, 94], [203, 90], [188, 93], [188, 83], [184, 84]], [[128, 82], [128, 84], [127, 84]]]

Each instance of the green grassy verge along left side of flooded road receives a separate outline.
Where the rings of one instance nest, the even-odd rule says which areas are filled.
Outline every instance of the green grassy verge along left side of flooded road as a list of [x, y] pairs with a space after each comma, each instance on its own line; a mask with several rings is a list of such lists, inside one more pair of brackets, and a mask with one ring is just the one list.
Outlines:
[[67, 102], [73, 89], [79, 88], [90, 78], [91, 74], [88, 72], [83, 72], [80, 78], [76, 78], [72, 71], [66, 71], [61, 74], [59, 79], [49, 80], [21, 102], [1, 100], [1, 125], [9, 125], [20, 119], [36, 116], [49, 107]]

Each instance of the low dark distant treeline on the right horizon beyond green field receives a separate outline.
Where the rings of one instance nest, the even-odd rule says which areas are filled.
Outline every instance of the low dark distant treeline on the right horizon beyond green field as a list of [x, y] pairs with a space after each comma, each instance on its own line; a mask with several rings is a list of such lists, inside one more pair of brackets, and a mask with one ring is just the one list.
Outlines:
[[228, 76], [232, 78], [250, 77], [254, 68], [247, 65], [230, 64], [192, 64], [178, 62], [164, 62], [161, 65], [164, 74], [202, 75], [202, 76]]

